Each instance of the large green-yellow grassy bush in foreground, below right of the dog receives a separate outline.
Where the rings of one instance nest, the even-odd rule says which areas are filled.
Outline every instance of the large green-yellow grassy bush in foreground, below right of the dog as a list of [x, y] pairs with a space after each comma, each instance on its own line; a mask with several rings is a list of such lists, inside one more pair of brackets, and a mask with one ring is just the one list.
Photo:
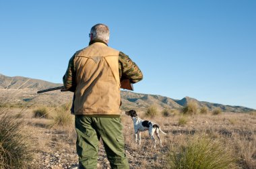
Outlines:
[[187, 146], [171, 150], [168, 156], [170, 168], [228, 169], [233, 168], [233, 152], [216, 139], [194, 137]]

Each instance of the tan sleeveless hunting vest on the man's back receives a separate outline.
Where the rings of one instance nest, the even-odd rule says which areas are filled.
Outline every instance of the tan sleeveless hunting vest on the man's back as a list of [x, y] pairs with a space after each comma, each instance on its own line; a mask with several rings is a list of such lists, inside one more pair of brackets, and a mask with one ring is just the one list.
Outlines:
[[75, 115], [120, 115], [119, 51], [96, 42], [77, 51]]

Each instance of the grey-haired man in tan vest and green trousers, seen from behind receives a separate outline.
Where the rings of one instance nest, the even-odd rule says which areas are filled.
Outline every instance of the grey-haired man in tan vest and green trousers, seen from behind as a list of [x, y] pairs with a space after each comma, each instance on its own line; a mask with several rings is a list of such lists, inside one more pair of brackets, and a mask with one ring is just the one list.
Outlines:
[[63, 76], [73, 91], [79, 168], [97, 168], [100, 138], [111, 168], [129, 168], [121, 124], [120, 80], [131, 83], [143, 75], [129, 56], [108, 47], [109, 30], [92, 27], [89, 46], [75, 52]]

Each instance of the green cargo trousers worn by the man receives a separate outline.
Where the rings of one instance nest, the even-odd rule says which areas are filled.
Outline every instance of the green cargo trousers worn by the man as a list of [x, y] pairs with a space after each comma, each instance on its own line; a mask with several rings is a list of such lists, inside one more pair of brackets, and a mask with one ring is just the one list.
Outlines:
[[97, 168], [100, 137], [111, 168], [129, 168], [120, 117], [75, 115], [79, 168]]

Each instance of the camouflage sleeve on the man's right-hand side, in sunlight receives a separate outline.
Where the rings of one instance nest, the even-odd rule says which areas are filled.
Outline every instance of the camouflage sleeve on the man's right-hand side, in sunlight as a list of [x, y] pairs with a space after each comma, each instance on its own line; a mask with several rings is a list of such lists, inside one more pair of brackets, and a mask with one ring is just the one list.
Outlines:
[[137, 64], [123, 52], [119, 52], [119, 77], [120, 79], [130, 79], [131, 83], [139, 82], [143, 74]]

